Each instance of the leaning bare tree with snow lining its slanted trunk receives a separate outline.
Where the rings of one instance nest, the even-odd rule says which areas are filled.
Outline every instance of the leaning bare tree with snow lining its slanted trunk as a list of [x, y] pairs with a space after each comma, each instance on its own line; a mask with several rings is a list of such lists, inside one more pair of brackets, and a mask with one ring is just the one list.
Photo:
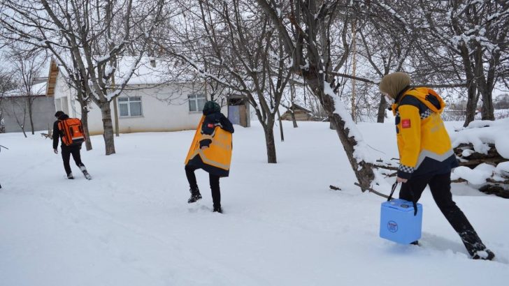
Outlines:
[[[336, 126], [336, 132], [350, 161], [352, 170], [357, 176], [361, 189], [368, 190], [374, 179], [372, 162], [366, 162], [366, 144], [359, 136], [350, 114], [338, 102], [335, 94], [336, 75], [347, 57], [347, 47], [343, 43], [334, 46], [331, 29], [336, 27], [345, 31], [351, 22], [352, 7], [350, 1], [290, 1], [289, 6], [282, 6], [275, 1], [257, 0], [257, 3], [271, 18], [278, 31], [285, 52], [292, 57], [292, 70], [302, 75], [310, 90], [320, 100], [329, 119]], [[336, 21], [338, 19], [343, 22]], [[335, 24], [337, 26], [335, 26]], [[341, 34], [341, 33], [339, 33]], [[342, 53], [341, 53], [342, 52]], [[336, 104], [338, 103], [338, 104]], [[369, 160], [368, 160], [369, 161]]]

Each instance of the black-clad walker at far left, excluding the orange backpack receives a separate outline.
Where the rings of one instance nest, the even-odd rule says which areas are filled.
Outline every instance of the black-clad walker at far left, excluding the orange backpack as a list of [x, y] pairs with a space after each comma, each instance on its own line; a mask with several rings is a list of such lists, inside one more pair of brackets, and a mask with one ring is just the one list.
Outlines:
[[[66, 132], [69, 132], [69, 130], [65, 130], [65, 128], [62, 128], [62, 121], [69, 119], [69, 116], [65, 114], [62, 111], [57, 111], [55, 113], [55, 117], [57, 117], [57, 120], [55, 123], [53, 123], [53, 152], [55, 154], [58, 154], [58, 140], [60, 138], [61, 140], [61, 149], [62, 149], [62, 160], [64, 161], [64, 169], [66, 170], [67, 179], [74, 179], [73, 172], [71, 171], [71, 165], [69, 165], [69, 160], [71, 160], [71, 155], [73, 156], [74, 162], [76, 165], [80, 168], [80, 171], [83, 172], [83, 175], [87, 179], [92, 179], [92, 176], [87, 171], [87, 168], [85, 167], [85, 164], [81, 161], [81, 144], [85, 140], [85, 137], [80, 138], [78, 142], [68, 142], [66, 144]], [[76, 120], [76, 119], [75, 119]], [[82, 130], [83, 133], [83, 130]], [[83, 140], [83, 141], [82, 141]]]

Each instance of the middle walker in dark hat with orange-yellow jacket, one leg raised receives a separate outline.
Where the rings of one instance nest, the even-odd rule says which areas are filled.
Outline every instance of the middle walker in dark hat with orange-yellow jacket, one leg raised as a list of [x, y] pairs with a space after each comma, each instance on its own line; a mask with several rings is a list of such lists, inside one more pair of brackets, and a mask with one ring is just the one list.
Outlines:
[[[227, 135], [222, 134], [222, 130]], [[210, 190], [212, 191], [213, 211], [222, 213], [219, 179], [229, 175], [231, 159], [231, 134], [234, 126], [214, 101], [208, 101], [203, 107], [201, 125], [196, 130], [193, 143], [187, 154], [185, 174], [189, 182], [191, 197], [187, 203], [201, 200], [201, 193], [196, 183], [194, 171], [202, 169], [208, 172]]]

